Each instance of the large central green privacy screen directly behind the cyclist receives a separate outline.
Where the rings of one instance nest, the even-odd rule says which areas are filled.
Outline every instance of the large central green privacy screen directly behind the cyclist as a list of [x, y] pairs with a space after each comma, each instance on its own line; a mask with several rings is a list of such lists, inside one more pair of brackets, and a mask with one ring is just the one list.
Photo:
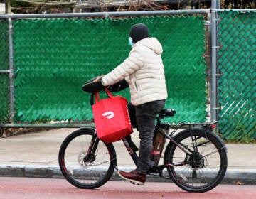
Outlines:
[[[166, 107], [177, 112], [171, 121], [206, 121], [203, 16], [154, 16], [14, 21], [16, 122], [90, 120], [90, 94], [81, 87], [127, 58], [135, 23], [163, 45]], [[129, 90], [117, 94], [129, 99]]]

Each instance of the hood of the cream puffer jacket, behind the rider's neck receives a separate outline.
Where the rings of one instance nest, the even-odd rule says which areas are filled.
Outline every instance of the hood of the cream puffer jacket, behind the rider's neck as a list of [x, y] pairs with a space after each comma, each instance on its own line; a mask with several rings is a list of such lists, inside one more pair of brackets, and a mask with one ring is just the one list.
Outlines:
[[163, 48], [161, 46], [161, 43], [157, 40], [157, 38], [144, 38], [137, 43], [134, 44], [133, 48], [142, 45], [146, 46], [147, 48], [150, 48], [153, 50], [157, 55], [160, 55], [163, 53]]

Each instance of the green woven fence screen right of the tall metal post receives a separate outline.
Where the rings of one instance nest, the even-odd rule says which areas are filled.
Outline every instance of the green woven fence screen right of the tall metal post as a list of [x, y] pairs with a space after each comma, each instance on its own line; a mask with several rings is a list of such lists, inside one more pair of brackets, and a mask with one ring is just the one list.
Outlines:
[[219, 129], [226, 139], [256, 139], [256, 12], [218, 14]]

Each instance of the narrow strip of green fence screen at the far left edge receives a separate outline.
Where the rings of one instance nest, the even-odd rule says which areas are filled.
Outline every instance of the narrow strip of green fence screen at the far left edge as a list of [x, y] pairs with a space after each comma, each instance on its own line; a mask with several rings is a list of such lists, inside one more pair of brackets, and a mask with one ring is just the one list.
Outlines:
[[[0, 70], [9, 69], [8, 22], [0, 20]], [[0, 72], [0, 123], [9, 118], [9, 75]]]

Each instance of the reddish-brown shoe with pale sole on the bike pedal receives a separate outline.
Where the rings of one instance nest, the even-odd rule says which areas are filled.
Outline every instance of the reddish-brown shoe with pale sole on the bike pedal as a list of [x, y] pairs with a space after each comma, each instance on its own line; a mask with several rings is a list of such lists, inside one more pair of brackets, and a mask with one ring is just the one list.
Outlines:
[[146, 181], [146, 174], [138, 173], [136, 170], [131, 172], [118, 171], [118, 174], [121, 178], [138, 185], [144, 185]]

